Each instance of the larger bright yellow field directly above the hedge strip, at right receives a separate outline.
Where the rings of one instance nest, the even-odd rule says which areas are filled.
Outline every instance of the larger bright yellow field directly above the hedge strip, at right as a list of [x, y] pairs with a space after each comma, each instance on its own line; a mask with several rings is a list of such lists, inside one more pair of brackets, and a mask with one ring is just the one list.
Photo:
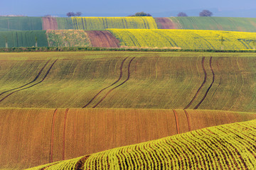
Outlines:
[[256, 33], [218, 30], [119, 30], [110, 32], [121, 47], [180, 47], [193, 50], [255, 49]]

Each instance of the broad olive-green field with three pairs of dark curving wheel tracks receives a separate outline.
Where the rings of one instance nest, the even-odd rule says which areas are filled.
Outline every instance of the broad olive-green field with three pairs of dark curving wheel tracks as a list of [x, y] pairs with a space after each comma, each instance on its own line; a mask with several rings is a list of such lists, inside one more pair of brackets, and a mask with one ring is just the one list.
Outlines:
[[2, 53], [0, 107], [255, 112], [254, 56], [200, 52]]

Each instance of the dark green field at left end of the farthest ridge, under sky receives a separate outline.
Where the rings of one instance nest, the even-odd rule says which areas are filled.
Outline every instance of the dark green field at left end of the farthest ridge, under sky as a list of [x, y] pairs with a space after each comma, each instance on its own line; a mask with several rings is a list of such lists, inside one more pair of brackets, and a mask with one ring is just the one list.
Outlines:
[[43, 30], [41, 17], [0, 16], [0, 31]]

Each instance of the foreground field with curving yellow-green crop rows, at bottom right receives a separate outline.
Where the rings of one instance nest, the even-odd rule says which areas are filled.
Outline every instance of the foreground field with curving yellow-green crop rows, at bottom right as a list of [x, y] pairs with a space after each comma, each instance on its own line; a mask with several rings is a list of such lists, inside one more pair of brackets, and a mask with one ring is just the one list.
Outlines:
[[41, 169], [255, 169], [256, 120], [110, 149]]

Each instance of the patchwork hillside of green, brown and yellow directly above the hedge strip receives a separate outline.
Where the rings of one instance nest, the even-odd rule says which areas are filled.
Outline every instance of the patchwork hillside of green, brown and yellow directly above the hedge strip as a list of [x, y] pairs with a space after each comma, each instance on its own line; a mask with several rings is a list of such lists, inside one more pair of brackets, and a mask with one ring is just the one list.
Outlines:
[[254, 50], [256, 33], [220, 30], [0, 31], [0, 47], [160, 47], [183, 50]]

